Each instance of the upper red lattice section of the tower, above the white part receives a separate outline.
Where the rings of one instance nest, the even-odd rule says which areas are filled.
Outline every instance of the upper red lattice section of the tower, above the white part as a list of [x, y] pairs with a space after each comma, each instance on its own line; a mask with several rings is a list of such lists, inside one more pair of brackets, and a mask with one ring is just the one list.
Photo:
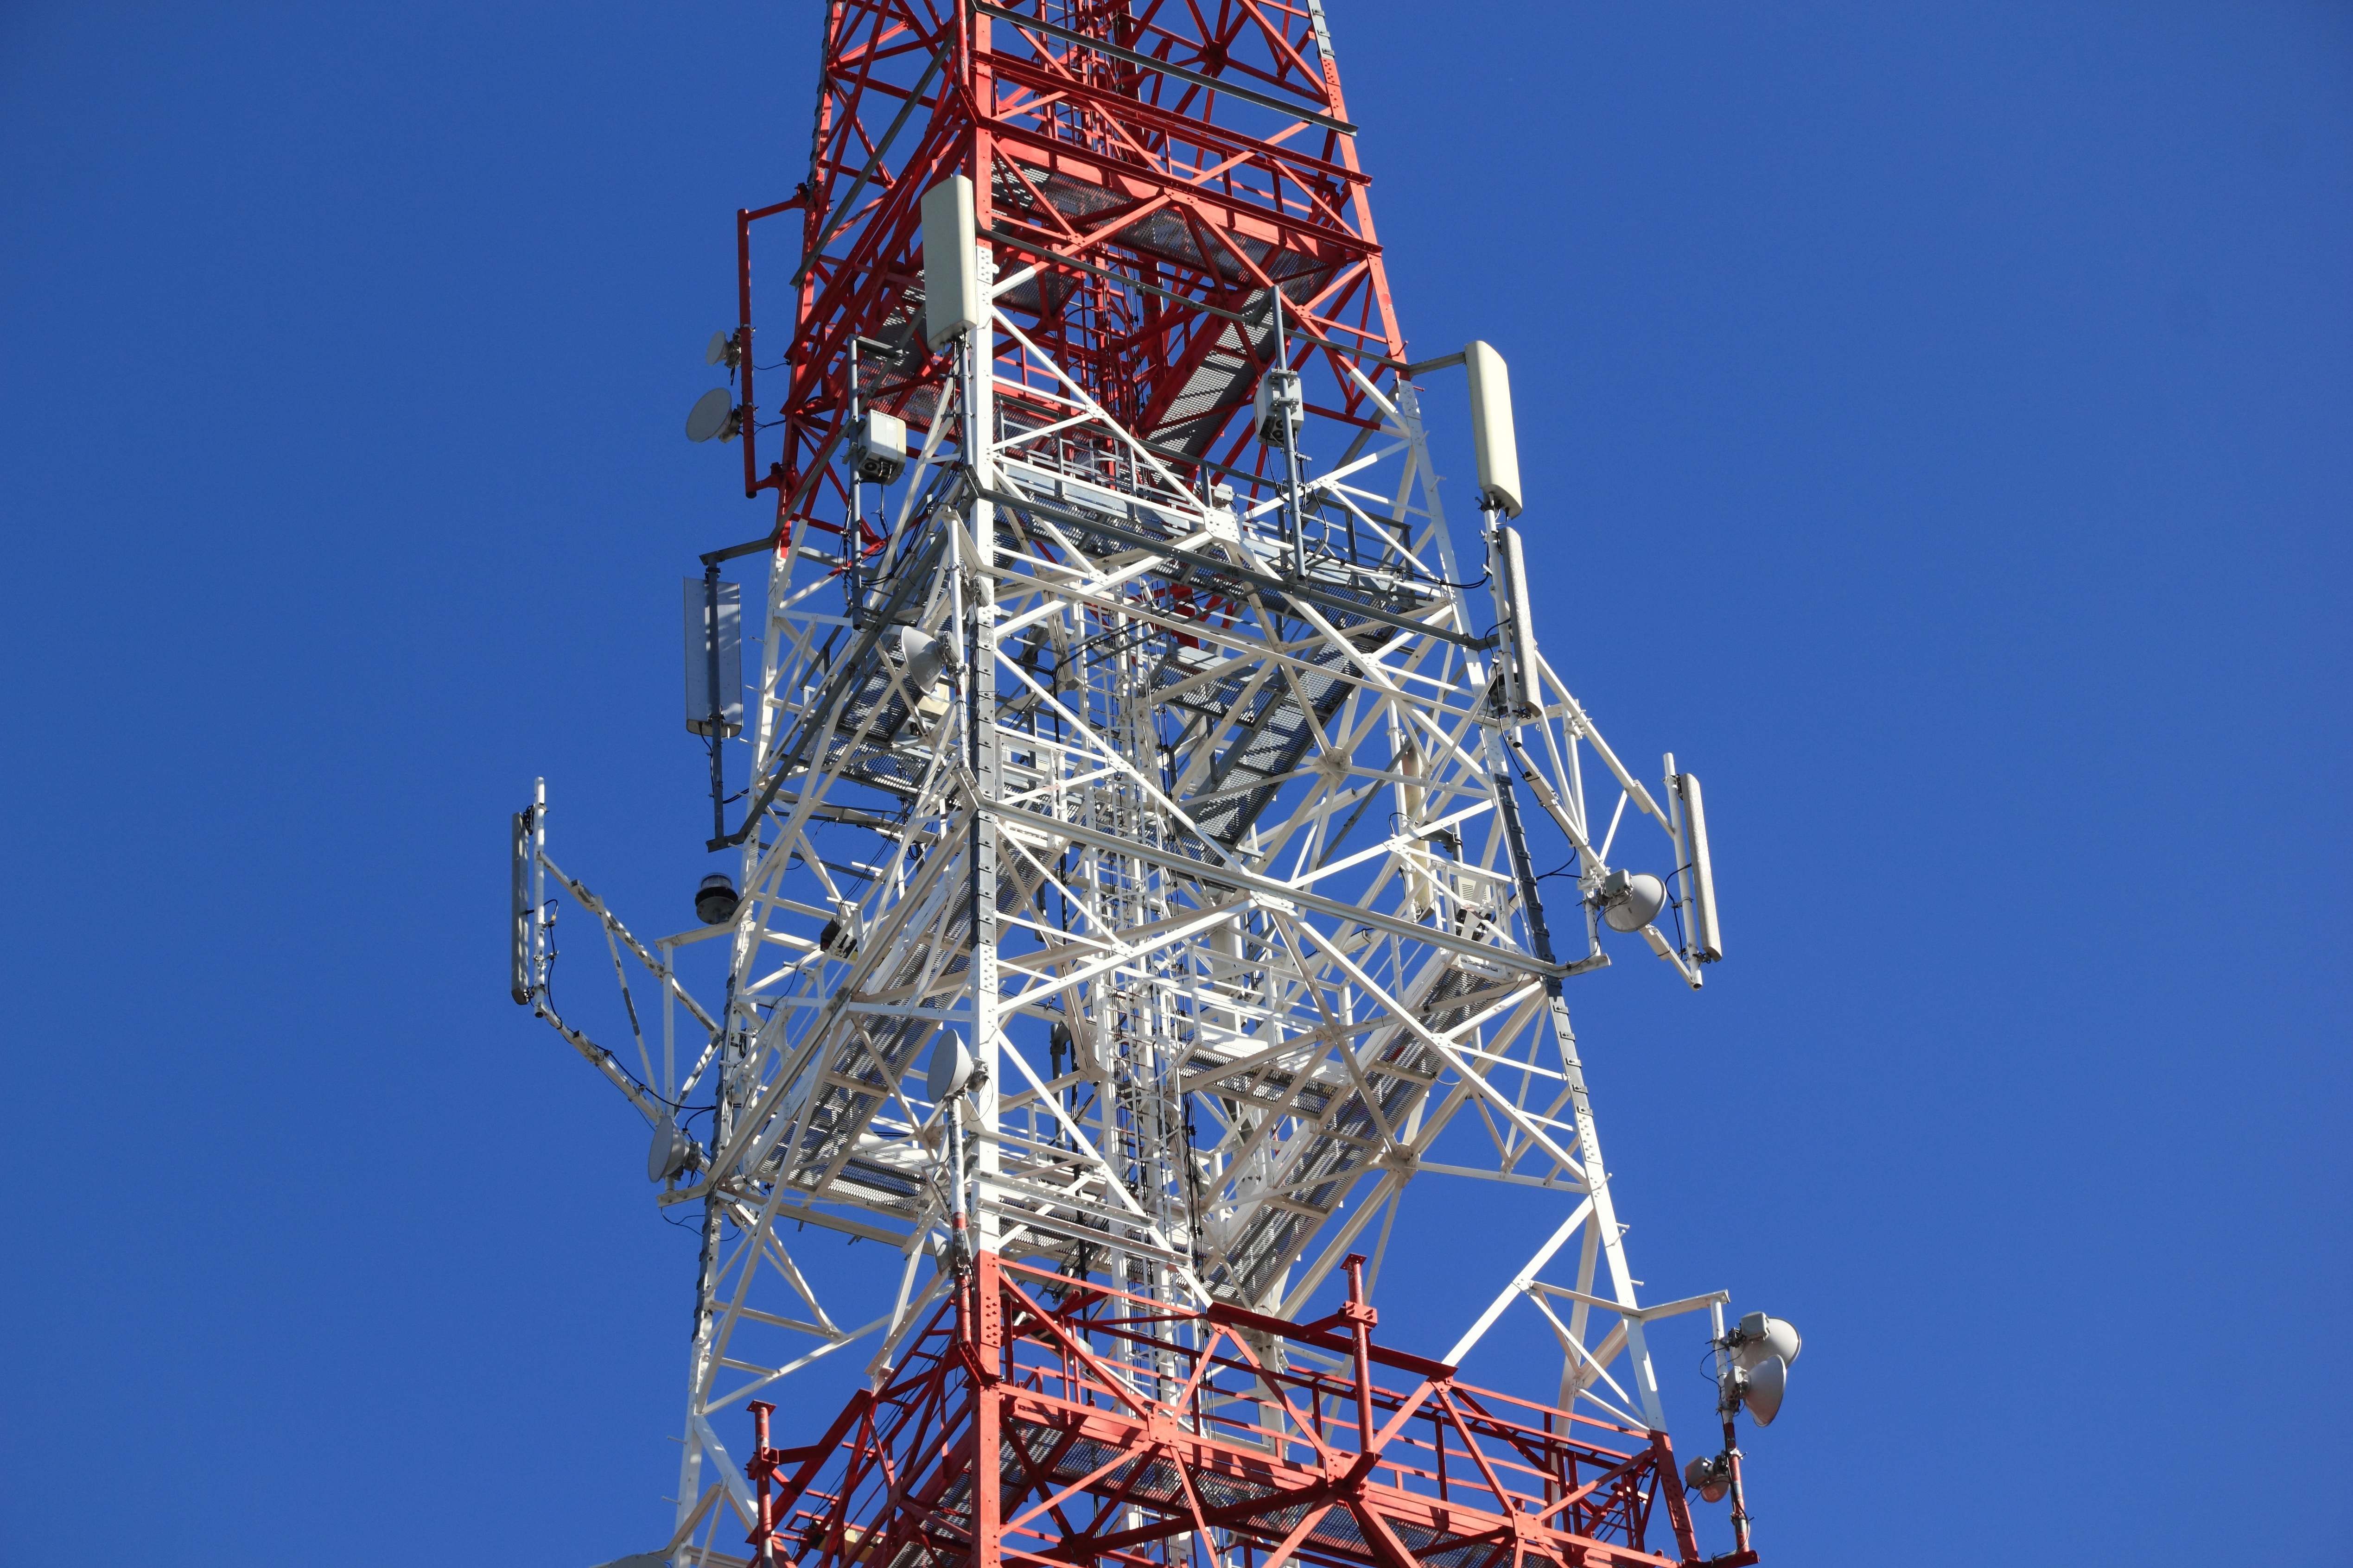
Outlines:
[[[840, 531], [828, 454], [852, 339], [889, 346], [861, 355], [868, 404], [927, 428], [948, 362], [920, 334], [920, 200], [948, 174], [974, 181], [1000, 277], [1038, 268], [998, 306], [1179, 473], [1261, 473], [1247, 409], [1275, 294], [1311, 409], [1377, 425], [1346, 364], [1402, 367], [1405, 339], [1315, 33], [1308, 9], [1268, 0], [835, 0], [809, 179], [739, 214], [746, 367], [760, 331], [788, 339], [784, 395], [760, 407], [746, 386], [746, 489], [779, 489], [779, 522]], [[802, 214], [791, 320], [769, 294], [762, 329], [751, 233], [779, 209]]]

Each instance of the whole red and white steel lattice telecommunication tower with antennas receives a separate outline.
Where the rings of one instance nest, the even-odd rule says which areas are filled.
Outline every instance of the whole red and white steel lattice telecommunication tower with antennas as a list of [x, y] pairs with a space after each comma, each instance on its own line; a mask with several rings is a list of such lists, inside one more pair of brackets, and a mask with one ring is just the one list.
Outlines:
[[[772, 527], [685, 583], [729, 870], [640, 940], [544, 788], [513, 825], [513, 997], [701, 1222], [642, 1559], [1697, 1563], [1692, 1493], [1755, 1561], [1732, 1422], [1798, 1338], [1638, 1300], [1565, 987], [1722, 954], [1699, 780], [1638, 778], [1544, 661], [1504, 360], [1407, 357], [1320, 0], [833, 0], [809, 174], [736, 252], [687, 433]], [[1426, 397], [1468, 409], [1464, 536]], [[633, 1063], [555, 1011], [565, 898]], [[1374, 1335], [1421, 1178], [1560, 1204], [1435, 1356]], [[1553, 1403], [1457, 1378], [1511, 1302]], [[1722, 1450], [1678, 1469], [1685, 1312]], [[772, 1432], [840, 1354], [864, 1392]]]

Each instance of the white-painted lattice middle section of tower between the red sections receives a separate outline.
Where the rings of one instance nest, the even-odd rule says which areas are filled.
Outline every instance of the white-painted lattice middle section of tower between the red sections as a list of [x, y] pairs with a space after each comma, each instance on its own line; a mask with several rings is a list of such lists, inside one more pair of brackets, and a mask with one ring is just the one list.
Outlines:
[[[1447, 1359], [1532, 1300], [1567, 1396], [1664, 1427], [1645, 1326], [1704, 1298], [1638, 1302], [1565, 980], [1609, 961], [1593, 898], [1621, 827], [1713, 957], [1704, 818], [1673, 766], [1661, 811], [1537, 654], [1497, 517], [1520, 510], [1501, 357], [1466, 350], [1499, 503], [1473, 559], [1520, 588], [1492, 616], [1412, 381], [1365, 378], [1379, 433], [1308, 418], [1301, 454], [1339, 461], [1297, 501], [1238, 475], [1212, 503], [984, 303], [1021, 275], [951, 244], [969, 188], [927, 219], [934, 197], [929, 299], [960, 322], [960, 371], [904, 494], [880, 487], [854, 599], [802, 524], [772, 552], [734, 919], [638, 940], [555, 870], [532, 806], [536, 1011], [649, 1121], [694, 1126], [656, 1194], [704, 1220], [678, 1540], [741, 1507], [713, 1425], [744, 1396], [852, 1342], [885, 1375], [960, 1206], [1005, 1255], [1304, 1314], [1360, 1241], [1379, 1267], [1421, 1173], [1560, 1192], [1567, 1215]], [[1619, 790], [1600, 846], [1588, 759]], [[1558, 872], [1529, 820], [1565, 837]], [[555, 1016], [551, 875], [624, 987], [631, 964], [652, 976], [659, 1072], [635, 1001], [638, 1072]], [[704, 938], [727, 966], [696, 992], [680, 966]], [[955, 1138], [922, 1086], [944, 1027], [979, 1063]], [[828, 1234], [889, 1267], [831, 1260]], [[1539, 1279], [1569, 1241], [1574, 1284]]]

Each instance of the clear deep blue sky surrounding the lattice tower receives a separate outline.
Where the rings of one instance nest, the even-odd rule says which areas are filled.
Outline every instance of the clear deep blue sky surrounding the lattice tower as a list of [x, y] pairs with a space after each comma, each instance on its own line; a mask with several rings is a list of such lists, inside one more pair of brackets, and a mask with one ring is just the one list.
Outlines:
[[[678, 425], [814, 28], [0, 14], [9, 1561], [661, 1537], [692, 1239], [501, 994], [504, 830], [546, 773], [685, 924], [675, 581], [758, 515]], [[1572, 1004], [1635, 1272], [1807, 1333], [1767, 1561], [2341, 1559], [2353, 12], [1334, 33], [1548, 656], [1708, 780], [1727, 961]], [[1417, 1190], [1384, 1328], [1537, 1225]]]

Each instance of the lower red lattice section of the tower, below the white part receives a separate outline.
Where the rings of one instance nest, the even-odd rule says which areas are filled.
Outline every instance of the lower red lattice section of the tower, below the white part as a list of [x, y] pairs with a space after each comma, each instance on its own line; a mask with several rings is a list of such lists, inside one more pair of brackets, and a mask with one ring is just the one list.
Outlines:
[[[769, 1448], [755, 1408], [753, 1554], [802, 1568], [1697, 1563], [1666, 1434], [1428, 1361], [1412, 1382], [1377, 1382], [1372, 1366], [1400, 1356], [1372, 1345], [1360, 1298], [1271, 1324], [984, 1253], [816, 1446]], [[1294, 1359], [1332, 1338], [1365, 1354]]]

